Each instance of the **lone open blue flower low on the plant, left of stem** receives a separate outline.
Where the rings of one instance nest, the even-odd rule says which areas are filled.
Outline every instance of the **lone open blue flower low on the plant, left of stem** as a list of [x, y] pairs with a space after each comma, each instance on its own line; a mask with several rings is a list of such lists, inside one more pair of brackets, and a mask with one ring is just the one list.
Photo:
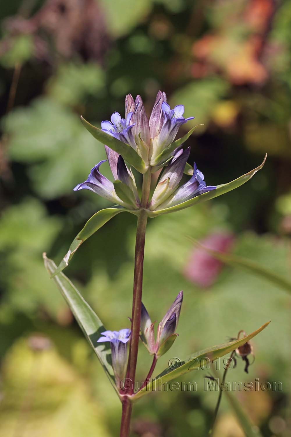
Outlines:
[[104, 331], [97, 343], [110, 342], [112, 367], [116, 386], [125, 378], [127, 370], [127, 342], [130, 340], [130, 329], [120, 331]]

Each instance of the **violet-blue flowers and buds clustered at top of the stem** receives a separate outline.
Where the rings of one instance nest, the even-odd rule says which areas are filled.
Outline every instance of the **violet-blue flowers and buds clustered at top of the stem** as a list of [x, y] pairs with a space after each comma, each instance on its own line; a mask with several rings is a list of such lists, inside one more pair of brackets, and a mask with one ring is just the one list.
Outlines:
[[[182, 144], [178, 147], [171, 145], [174, 144], [179, 127], [194, 118], [184, 118], [183, 114], [183, 105], [171, 109], [166, 94], [159, 91], [148, 120], [141, 97], [137, 96], [134, 101], [128, 94], [125, 99], [125, 118], [114, 112], [111, 121], [101, 123], [103, 132], [132, 147], [147, 168], [155, 171], [165, 166], [151, 198], [150, 211], [178, 205], [216, 188], [206, 186], [204, 176], [195, 163], [190, 180], [180, 185], [190, 148], [184, 150]], [[92, 168], [87, 180], [78, 184], [74, 190], [86, 188], [124, 208], [139, 209], [140, 198], [132, 170], [127, 167], [119, 153], [108, 146], [105, 149], [114, 182], [99, 172], [99, 167], [104, 162], [101, 161]]]

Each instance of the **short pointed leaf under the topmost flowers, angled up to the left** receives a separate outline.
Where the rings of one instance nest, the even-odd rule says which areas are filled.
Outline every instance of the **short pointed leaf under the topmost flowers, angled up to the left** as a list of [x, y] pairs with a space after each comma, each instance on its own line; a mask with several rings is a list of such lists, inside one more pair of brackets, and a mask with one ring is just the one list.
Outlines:
[[102, 142], [102, 144], [106, 144], [106, 146], [110, 147], [110, 149], [119, 153], [125, 161], [134, 166], [134, 168], [136, 168], [140, 173], [145, 173], [147, 171], [147, 167], [145, 166], [142, 157], [129, 144], [114, 138], [112, 135], [103, 132], [99, 128], [96, 128], [86, 121], [82, 116], [81, 120], [87, 131], [90, 132], [94, 138], [98, 139], [98, 141]]

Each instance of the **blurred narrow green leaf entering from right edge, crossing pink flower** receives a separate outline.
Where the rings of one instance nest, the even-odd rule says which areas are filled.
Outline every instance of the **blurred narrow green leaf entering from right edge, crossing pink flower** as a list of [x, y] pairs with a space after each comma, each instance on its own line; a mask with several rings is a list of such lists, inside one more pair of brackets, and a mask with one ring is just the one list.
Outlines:
[[204, 249], [206, 252], [210, 253], [212, 257], [217, 258], [225, 264], [228, 264], [232, 267], [240, 267], [244, 270], [250, 271], [251, 273], [255, 273], [268, 281], [273, 282], [275, 285], [283, 288], [288, 293], [291, 293], [291, 282], [288, 279], [284, 278], [277, 273], [266, 269], [261, 266], [259, 263], [253, 260], [248, 260], [247, 258], [238, 257], [233, 254], [218, 252], [217, 250], [208, 249], [207, 247], [200, 244], [197, 240], [191, 239], [197, 246]]

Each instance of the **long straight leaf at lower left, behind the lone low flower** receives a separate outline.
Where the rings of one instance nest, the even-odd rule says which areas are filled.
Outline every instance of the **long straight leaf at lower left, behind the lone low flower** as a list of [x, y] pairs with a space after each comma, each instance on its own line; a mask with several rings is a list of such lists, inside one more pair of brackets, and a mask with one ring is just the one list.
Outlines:
[[61, 291], [62, 296], [68, 303], [68, 306], [75, 316], [75, 319], [79, 323], [79, 326], [82, 329], [86, 339], [99, 358], [106, 375], [118, 393], [115, 385], [113, 368], [111, 365], [110, 346], [103, 343], [97, 343], [101, 333], [106, 331], [103, 323], [89, 306], [89, 304], [85, 301], [82, 295], [80, 295], [79, 291], [75, 288], [72, 282], [63, 273], [56, 274], [57, 266], [55, 263], [47, 258], [45, 253], [43, 254], [43, 258], [45, 268], [51, 276], [54, 276], [54, 281], [57, 284], [58, 289]]

